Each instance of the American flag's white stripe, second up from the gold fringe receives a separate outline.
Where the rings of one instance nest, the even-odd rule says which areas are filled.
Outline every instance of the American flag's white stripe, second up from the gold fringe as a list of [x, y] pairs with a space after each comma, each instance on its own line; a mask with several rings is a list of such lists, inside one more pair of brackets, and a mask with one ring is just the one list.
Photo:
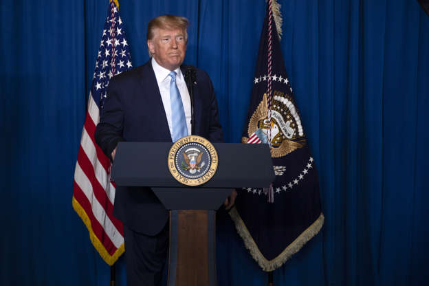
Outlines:
[[115, 187], [112, 186], [106, 170], [98, 161], [96, 146], [94, 146], [94, 142], [92, 142], [91, 137], [89, 137], [89, 134], [85, 128], [82, 131], [82, 140], [80, 141], [80, 146], [82, 146], [83, 151], [85, 154], [87, 154], [98, 182], [106, 192], [107, 197], [109, 197], [109, 201], [113, 204], [115, 201]]

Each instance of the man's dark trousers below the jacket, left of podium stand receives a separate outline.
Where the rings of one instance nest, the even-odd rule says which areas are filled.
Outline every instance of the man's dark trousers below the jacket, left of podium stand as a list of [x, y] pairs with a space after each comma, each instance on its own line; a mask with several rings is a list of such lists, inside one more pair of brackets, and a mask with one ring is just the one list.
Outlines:
[[161, 285], [168, 253], [168, 223], [155, 236], [135, 232], [124, 225], [124, 241], [126, 285]]

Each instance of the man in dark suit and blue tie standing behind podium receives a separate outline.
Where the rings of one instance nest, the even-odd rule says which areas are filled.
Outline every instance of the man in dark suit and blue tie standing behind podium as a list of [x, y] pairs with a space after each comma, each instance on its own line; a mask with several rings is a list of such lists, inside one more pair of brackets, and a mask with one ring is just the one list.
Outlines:
[[[111, 79], [96, 129], [96, 142], [115, 158], [120, 141], [175, 142], [195, 135], [223, 141], [212, 83], [196, 69], [191, 101], [181, 65], [186, 53], [188, 20], [164, 15], [148, 23], [151, 59]], [[193, 129], [192, 129], [193, 125]], [[150, 162], [148, 162], [150, 164]], [[234, 204], [236, 192], [225, 201]], [[113, 214], [124, 223], [127, 285], [158, 285], [166, 261], [168, 212], [150, 188], [120, 188]]]

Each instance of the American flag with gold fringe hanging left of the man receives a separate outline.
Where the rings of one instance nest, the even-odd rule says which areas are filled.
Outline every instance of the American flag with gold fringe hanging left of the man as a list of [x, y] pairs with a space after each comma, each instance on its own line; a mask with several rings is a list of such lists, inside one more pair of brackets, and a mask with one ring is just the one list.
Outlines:
[[113, 217], [115, 184], [110, 180], [111, 162], [96, 144], [94, 133], [109, 80], [132, 67], [118, 6], [117, 1], [110, 1], [102, 32], [74, 171], [72, 200], [74, 210], [87, 225], [92, 244], [109, 265], [124, 252], [124, 230]]

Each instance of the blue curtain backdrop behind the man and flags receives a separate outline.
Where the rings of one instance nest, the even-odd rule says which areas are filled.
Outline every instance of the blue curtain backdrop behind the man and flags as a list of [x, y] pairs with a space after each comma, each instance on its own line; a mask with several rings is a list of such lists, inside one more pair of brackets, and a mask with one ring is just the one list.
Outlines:
[[[281, 0], [281, 47], [316, 159], [325, 226], [275, 285], [424, 285], [429, 246], [429, 17], [409, 0]], [[120, 1], [133, 65], [146, 25], [190, 20], [186, 63], [212, 78], [227, 142], [245, 124], [265, 1]], [[2, 0], [1, 285], [109, 285], [72, 209], [107, 0]], [[239, 198], [238, 198], [239, 199]], [[219, 286], [265, 285], [219, 212]], [[118, 285], [125, 285], [124, 261]]]

